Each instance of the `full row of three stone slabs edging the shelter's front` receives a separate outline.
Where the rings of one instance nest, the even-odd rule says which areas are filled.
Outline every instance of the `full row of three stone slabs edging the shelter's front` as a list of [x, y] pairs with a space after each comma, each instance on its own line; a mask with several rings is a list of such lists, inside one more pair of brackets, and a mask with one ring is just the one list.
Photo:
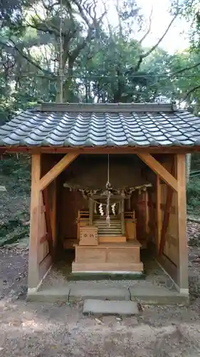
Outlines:
[[[87, 282], [85, 281], [85, 284]], [[147, 283], [147, 286], [144, 286]], [[87, 284], [86, 284], [87, 285]], [[155, 286], [148, 282], [138, 281], [135, 287], [105, 286], [105, 283], [90, 282], [90, 286], [85, 286], [83, 282], [69, 283], [65, 287], [46, 288], [36, 293], [28, 293], [29, 301], [81, 301], [86, 299], [98, 299], [101, 301], [140, 301], [147, 304], [174, 305], [177, 303], [187, 304], [189, 296], [170, 291], [162, 286]]]

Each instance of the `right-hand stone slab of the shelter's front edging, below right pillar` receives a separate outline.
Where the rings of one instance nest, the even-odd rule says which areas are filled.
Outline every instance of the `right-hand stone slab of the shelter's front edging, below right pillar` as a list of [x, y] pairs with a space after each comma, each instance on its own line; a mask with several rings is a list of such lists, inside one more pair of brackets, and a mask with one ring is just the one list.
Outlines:
[[175, 305], [189, 303], [189, 295], [184, 295], [176, 291], [170, 291], [162, 286], [140, 286], [129, 288], [132, 301], [140, 301], [141, 303], [155, 305]]

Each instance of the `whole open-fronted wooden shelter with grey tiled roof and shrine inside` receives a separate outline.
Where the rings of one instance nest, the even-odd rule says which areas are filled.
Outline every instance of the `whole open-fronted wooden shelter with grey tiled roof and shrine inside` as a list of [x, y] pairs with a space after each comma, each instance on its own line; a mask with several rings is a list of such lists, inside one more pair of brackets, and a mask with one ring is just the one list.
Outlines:
[[28, 294], [63, 248], [73, 272], [137, 273], [147, 248], [188, 294], [185, 154], [199, 143], [199, 118], [172, 104], [44, 103], [1, 126], [1, 154], [32, 156]]

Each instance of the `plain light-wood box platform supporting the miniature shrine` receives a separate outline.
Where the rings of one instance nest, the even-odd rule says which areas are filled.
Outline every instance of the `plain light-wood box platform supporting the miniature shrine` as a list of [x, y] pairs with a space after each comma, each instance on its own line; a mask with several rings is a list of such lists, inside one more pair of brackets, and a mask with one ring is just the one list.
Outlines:
[[75, 245], [72, 272], [142, 272], [140, 246], [137, 241], [99, 243], [98, 246]]

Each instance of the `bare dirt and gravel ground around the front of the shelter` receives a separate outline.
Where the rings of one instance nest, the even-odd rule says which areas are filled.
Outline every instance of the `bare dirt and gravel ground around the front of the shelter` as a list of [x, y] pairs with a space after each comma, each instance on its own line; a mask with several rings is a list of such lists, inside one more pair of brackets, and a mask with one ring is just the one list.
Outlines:
[[189, 223], [191, 303], [139, 316], [83, 316], [82, 304], [28, 303], [26, 246], [0, 249], [0, 356], [200, 356], [200, 226]]

